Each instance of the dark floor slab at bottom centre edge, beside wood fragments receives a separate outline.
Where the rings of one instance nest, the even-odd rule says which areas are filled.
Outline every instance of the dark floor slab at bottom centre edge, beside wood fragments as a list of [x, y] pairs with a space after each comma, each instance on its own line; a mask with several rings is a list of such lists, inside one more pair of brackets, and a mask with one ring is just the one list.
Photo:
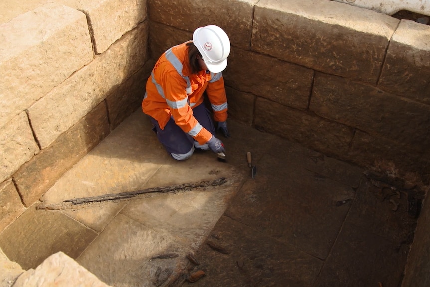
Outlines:
[[195, 254], [200, 265], [191, 272], [200, 269], [206, 275], [182, 286], [310, 287], [322, 267], [321, 260], [226, 216], [216, 224], [211, 240], [228, 254], [202, 246]]

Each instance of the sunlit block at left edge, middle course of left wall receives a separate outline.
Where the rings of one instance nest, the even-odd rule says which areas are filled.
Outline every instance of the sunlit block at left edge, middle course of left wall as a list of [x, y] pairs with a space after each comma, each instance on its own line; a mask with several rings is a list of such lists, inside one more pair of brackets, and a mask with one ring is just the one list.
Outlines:
[[0, 150], [0, 182], [10, 177], [39, 151], [25, 112], [0, 128]]

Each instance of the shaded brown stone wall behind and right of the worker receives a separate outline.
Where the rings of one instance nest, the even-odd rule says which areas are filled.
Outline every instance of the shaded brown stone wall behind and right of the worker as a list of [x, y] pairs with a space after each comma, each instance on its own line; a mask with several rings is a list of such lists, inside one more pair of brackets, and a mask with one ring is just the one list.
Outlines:
[[328, 0], [149, 1], [149, 9], [154, 57], [197, 26], [224, 28], [230, 117], [427, 186], [430, 26]]

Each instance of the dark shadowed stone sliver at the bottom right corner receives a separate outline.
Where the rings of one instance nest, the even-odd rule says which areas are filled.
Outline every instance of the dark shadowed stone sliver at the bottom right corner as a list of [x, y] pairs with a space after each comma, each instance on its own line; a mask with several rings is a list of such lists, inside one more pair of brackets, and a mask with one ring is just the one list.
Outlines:
[[[427, 195], [429, 195], [427, 191]], [[418, 219], [414, 242], [411, 245], [408, 261], [405, 267], [405, 277], [402, 287], [426, 287], [430, 285], [430, 198], [427, 196], [423, 203], [422, 213]]]

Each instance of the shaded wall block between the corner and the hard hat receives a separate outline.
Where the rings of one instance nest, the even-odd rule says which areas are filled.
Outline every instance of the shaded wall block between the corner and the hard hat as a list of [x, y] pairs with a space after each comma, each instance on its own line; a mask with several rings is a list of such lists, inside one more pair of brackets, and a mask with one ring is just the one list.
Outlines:
[[157, 60], [171, 47], [193, 39], [192, 32], [178, 30], [157, 22], [151, 22], [149, 33], [151, 38], [150, 49], [154, 60]]

